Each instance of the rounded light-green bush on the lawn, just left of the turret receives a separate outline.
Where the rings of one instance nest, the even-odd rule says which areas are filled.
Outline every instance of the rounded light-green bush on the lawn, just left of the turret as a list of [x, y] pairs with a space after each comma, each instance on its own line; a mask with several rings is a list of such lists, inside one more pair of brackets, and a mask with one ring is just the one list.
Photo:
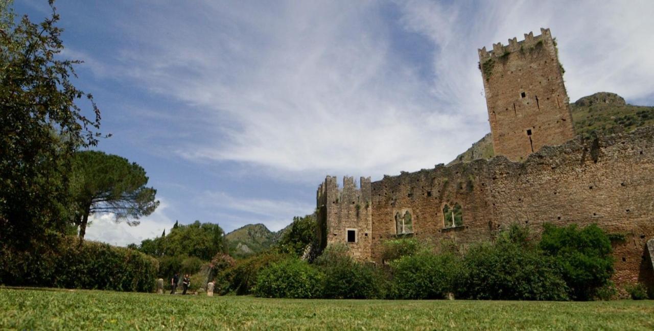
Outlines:
[[319, 298], [324, 275], [308, 262], [286, 258], [260, 271], [254, 294], [266, 298]]

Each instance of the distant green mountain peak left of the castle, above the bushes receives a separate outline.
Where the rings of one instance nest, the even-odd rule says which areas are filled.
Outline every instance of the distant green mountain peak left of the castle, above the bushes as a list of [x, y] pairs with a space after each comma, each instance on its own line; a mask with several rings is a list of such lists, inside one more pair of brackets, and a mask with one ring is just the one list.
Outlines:
[[272, 232], [264, 224], [248, 224], [225, 235], [230, 255], [243, 258], [269, 249], [279, 241], [290, 224], [277, 232]]

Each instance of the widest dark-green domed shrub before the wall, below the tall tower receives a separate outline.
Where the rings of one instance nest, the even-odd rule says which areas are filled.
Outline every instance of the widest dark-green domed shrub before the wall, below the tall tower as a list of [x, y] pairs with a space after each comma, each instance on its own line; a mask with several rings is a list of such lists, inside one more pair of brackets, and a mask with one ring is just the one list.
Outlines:
[[463, 260], [457, 296], [483, 300], [567, 300], [555, 260], [511, 241], [482, 244]]

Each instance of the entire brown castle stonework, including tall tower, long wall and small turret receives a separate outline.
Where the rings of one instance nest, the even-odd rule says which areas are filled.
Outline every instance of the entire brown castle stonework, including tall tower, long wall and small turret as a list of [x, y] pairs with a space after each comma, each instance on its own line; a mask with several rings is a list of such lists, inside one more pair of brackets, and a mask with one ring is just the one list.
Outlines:
[[[496, 77], [489, 77], [488, 81], [484, 76], [491, 128], [495, 126], [492, 132], [495, 151], [508, 152], [512, 157], [500, 155], [491, 160], [438, 165], [414, 173], [385, 176], [372, 183], [369, 177], [362, 177], [359, 188], [352, 177], [345, 177], [343, 188], [338, 187], [336, 177], [326, 177], [317, 192], [320, 246], [344, 243], [356, 259], [382, 263], [383, 241], [406, 235], [434, 243], [454, 241], [465, 249], [471, 243], [493, 240], [498, 232], [515, 222], [526, 224], [536, 234], [542, 231], [544, 222], [557, 226], [595, 223], [609, 234], [625, 239], [612, 243], [615, 283], [639, 281], [654, 286], [653, 262], [646, 245], [654, 238], [654, 127], [591, 140], [572, 137], [568, 132], [572, 121], [560, 72], [556, 71], [559, 76], [551, 83], [547, 82], [549, 74], [536, 71], [539, 68], [555, 71], [559, 67], [555, 52], [551, 53], [549, 30], [543, 29], [542, 35], [536, 38], [526, 37], [526, 41], [510, 42], [511, 52], [520, 52], [521, 45], [543, 41], [542, 51], [549, 53], [547, 64], [553, 61], [555, 67], [545, 65], [543, 56], [536, 56], [535, 60], [542, 61], [537, 65], [513, 67], [518, 71], [521, 68], [528, 71], [525, 68], [531, 67], [530, 75], [536, 78], [527, 78], [526, 73], [506, 73], [507, 69], [494, 69], [492, 75]], [[536, 52], [537, 47], [528, 52]], [[494, 52], [497, 51], [501, 52], [495, 46]], [[480, 50], [480, 57], [482, 52], [485, 50]], [[507, 63], [513, 63], [510, 58], [513, 54], [508, 56]], [[530, 81], [523, 86], [528, 94], [523, 98], [526, 100], [518, 100], [517, 114], [512, 114], [512, 109], [506, 113], [504, 102], [510, 100], [509, 96], [489, 96], [489, 92], [504, 94], [509, 90], [509, 87], [490, 86], [494, 78], [502, 75], [517, 75], [516, 84], [519, 80]], [[543, 92], [548, 90], [552, 91], [549, 95]], [[536, 93], [540, 106], [530, 109]], [[497, 111], [500, 103], [503, 111]], [[494, 120], [493, 111], [499, 112], [499, 120]], [[513, 120], [503, 122], [502, 116], [511, 114]], [[511, 121], [515, 123], [515, 133], [509, 130]], [[531, 143], [526, 139], [529, 145], [524, 143], [528, 137], [523, 132], [525, 128], [534, 130]], [[536, 130], [547, 131], [552, 137], [545, 139], [539, 135], [542, 131]], [[451, 208], [457, 204], [462, 210], [462, 225], [452, 226], [451, 214], [443, 215], [443, 210], [445, 205]], [[407, 212], [411, 215], [410, 233], [399, 234], [396, 215]]]

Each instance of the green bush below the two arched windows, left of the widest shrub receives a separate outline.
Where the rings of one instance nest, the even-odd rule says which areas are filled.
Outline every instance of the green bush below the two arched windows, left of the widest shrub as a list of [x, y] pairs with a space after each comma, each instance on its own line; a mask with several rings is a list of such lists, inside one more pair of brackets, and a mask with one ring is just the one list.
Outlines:
[[390, 264], [393, 273], [392, 296], [398, 299], [443, 299], [455, 292], [460, 261], [453, 254], [428, 251], [404, 256]]

